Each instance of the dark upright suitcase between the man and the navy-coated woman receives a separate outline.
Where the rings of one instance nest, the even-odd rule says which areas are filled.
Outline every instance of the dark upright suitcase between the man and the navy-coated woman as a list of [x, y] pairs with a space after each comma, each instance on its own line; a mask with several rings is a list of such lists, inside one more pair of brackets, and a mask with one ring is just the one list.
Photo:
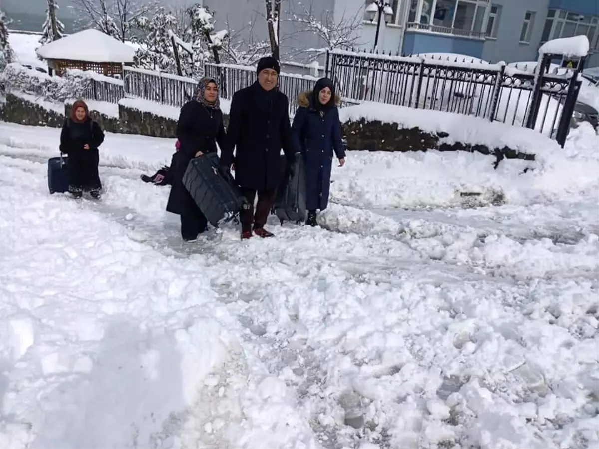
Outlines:
[[[286, 165], [285, 156], [281, 156], [281, 159], [281, 163]], [[293, 176], [290, 176], [288, 172], [285, 172], [274, 200], [273, 211], [279, 217], [281, 225], [285, 221], [303, 222], [307, 212], [305, 208], [304, 157], [300, 153], [295, 154], [292, 174]]]

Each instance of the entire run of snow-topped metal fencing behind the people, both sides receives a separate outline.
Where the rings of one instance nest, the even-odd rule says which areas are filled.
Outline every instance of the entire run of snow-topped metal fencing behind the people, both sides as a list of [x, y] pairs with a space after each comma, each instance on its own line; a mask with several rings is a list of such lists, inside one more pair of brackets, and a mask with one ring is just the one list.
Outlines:
[[[421, 56], [386, 56], [329, 51], [326, 74], [337, 84], [342, 106], [364, 101], [410, 108], [467, 114], [491, 122], [521, 126], [555, 138], [561, 145], [570, 128], [580, 81], [576, 69], [548, 74], [546, 55], [539, 73], [524, 72], [480, 60], [441, 60]], [[181, 107], [189, 100], [196, 80], [132, 67], [122, 81], [92, 80], [86, 98], [118, 102], [124, 96]], [[255, 68], [206, 64], [205, 75], [219, 82], [220, 95], [233, 93], [256, 80]], [[313, 89], [317, 78], [281, 74], [279, 89], [289, 98], [289, 114], [298, 107], [298, 94]]]

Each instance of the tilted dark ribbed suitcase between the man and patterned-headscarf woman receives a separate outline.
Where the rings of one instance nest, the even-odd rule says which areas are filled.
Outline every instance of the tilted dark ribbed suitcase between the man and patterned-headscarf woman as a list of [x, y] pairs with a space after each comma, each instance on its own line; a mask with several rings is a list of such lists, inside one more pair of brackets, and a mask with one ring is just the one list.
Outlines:
[[220, 173], [216, 153], [193, 158], [183, 175], [183, 185], [214, 227], [235, 219], [242, 208], [250, 207], [233, 177], [225, 178]]

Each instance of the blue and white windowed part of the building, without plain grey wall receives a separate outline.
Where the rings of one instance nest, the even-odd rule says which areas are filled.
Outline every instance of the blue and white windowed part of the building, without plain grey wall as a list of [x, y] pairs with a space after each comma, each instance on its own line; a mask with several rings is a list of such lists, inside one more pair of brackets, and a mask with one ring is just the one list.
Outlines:
[[[392, 0], [389, 5], [394, 14], [383, 20], [377, 45], [382, 51], [534, 61], [547, 40], [584, 34], [592, 51], [588, 65], [599, 65], [599, 0]], [[376, 29], [376, 19], [366, 19], [364, 27]]]

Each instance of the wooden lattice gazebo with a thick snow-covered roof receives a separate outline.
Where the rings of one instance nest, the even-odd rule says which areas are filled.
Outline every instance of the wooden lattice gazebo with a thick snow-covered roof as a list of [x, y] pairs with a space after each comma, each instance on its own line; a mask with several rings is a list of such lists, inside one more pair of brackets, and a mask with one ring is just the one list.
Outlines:
[[123, 64], [133, 64], [135, 49], [98, 30], [87, 29], [43, 45], [36, 53], [59, 76], [68, 69], [113, 76], [123, 74]]

